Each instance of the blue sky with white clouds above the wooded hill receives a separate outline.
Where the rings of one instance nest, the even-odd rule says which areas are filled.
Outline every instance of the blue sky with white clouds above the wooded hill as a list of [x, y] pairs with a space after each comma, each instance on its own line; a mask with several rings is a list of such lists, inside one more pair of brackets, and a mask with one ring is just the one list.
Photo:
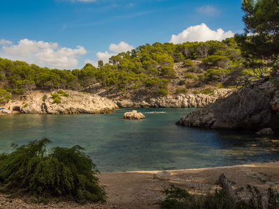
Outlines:
[[0, 57], [60, 70], [146, 43], [243, 33], [241, 0], [1, 0]]

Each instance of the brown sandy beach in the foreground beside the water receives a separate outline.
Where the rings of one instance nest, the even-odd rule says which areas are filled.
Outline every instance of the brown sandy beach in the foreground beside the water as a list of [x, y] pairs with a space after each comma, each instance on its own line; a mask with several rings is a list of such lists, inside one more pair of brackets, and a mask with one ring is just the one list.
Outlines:
[[[248, 164], [232, 167], [216, 167], [205, 169], [186, 169], [167, 171], [171, 173], [169, 180], [153, 178], [159, 171], [128, 171], [100, 173], [100, 185], [105, 185], [107, 202], [77, 203], [50, 201], [47, 205], [33, 204], [29, 199], [7, 199], [0, 195], [0, 208], [158, 208], [157, 202], [165, 198], [162, 189], [170, 184], [187, 189], [193, 194], [204, 194], [219, 188], [216, 182], [220, 174], [233, 182], [233, 187], [245, 187], [249, 184], [257, 186], [266, 195], [267, 188], [279, 189], [279, 162]], [[248, 190], [239, 193], [241, 199], [248, 199]]]

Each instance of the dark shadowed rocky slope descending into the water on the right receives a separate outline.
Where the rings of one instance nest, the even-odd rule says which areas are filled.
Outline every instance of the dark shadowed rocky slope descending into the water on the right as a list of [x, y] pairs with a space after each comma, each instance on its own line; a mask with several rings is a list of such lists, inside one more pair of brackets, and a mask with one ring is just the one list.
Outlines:
[[177, 125], [222, 129], [279, 128], [279, 90], [267, 82], [244, 88], [183, 116]]

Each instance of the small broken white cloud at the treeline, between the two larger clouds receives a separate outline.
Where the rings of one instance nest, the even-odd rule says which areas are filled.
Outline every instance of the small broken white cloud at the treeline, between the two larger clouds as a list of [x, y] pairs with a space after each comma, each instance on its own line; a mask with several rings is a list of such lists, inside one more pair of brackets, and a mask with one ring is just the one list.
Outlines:
[[[119, 42], [118, 45], [116, 44], [111, 44], [110, 47], [109, 47], [109, 51], [110, 52], [114, 52], [114, 53], [110, 53], [110, 52], [98, 52], [96, 54], [96, 57], [98, 60], [102, 60], [104, 63], [108, 63], [109, 62], [109, 59], [111, 56], [115, 56], [121, 52], [127, 52], [127, 51], [130, 51], [132, 49], [135, 49], [135, 47], [131, 46], [131, 45], [128, 45], [128, 43], [126, 42]], [[96, 66], [97, 63], [95, 61], [92, 61], [92, 60], [89, 60], [89, 59], [86, 59], [84, 61], [84, 63], [91, 63], [92, 65]]]

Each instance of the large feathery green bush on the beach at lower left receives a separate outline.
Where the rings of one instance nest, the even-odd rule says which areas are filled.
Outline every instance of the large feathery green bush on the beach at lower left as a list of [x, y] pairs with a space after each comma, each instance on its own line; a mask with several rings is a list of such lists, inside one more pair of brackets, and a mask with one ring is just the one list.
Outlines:
[[29, 193], [43, 199], [66, 198], [79, 203], [105, 201], [105, 191], [98, 185], [96, 165], [80, 146], [52, 148], [49, 139], [30, 141], [12, 153], [0, 155], [1, 192]]

